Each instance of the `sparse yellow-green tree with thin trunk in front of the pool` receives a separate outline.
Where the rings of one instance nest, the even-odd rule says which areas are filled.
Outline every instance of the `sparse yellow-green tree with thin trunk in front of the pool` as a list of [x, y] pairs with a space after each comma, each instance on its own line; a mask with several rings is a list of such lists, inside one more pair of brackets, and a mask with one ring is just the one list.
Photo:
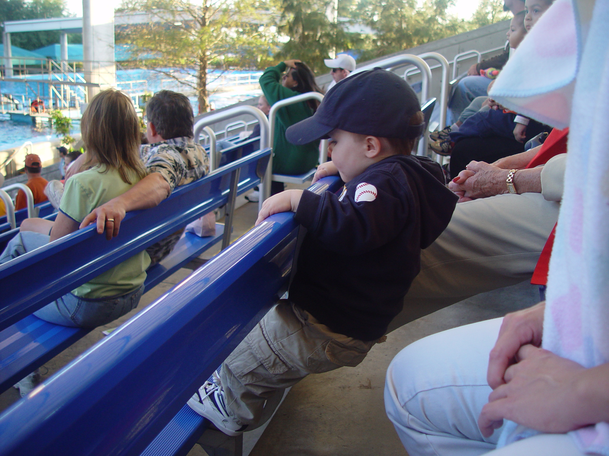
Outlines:
[[[252, 0], [126, 0], [121, 10], [144, 12], [150, 21], [118, 33], [132, 44], [140, 67], [155, 69], [192, 88], [199, 111], [209, 109], [210, 68], [265, 66], [276, 48], [276, 31]], [[178, 69], [164, 71], [163, 69]], [[192, 80], [192, 69], [195, 78]]]

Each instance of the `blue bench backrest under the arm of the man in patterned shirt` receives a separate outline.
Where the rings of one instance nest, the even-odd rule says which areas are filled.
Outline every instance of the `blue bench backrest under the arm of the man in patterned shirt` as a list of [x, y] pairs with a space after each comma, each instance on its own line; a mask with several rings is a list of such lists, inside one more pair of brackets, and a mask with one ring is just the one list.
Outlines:
[[[259, 162], [266, 165], [269, 155], [270, 149], [266, 149], [243, 157], [224, 170], [220, 168], [199, 181], [177, 188], [157, 207], [128, 213], [116, 240], [107, 241], [90, 226], [0, 265], [0, 330], [141, 252], [210, 208], [225, 204], [230, 174], [235, 168], [242, 168], [244, 176], [239, 182], [239, 194], [258, 185], [261, 168], [264, 169]], [[210, 195], [209, 199], [201, 201], [206, 195]], [[189, 209], [176, 216], [175, 208]], [[29, 283], [30, 277], [44, 277], [44, 284], [16, 286]]]

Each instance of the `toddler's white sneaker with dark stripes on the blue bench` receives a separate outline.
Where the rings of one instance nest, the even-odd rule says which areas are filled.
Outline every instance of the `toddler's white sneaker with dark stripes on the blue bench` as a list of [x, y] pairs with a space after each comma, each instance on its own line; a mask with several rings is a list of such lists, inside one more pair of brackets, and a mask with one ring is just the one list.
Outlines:
[[188, 406], [211, 421], [214, 426], [226, 435], [242, 434], [247, 426], [241, 426], [228, 415], [224, 390], [220, 384], [218, 371], [206, 381], [199, 390], [188, 399]]

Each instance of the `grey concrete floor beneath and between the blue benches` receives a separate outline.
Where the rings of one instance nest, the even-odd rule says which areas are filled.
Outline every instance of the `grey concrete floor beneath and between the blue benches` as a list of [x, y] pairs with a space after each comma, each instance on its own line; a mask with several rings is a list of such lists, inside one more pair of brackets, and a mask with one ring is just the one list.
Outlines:
[[[258, 205], [247, 203], [236, 211], [233, 240], [247, 232], [256, 219]], [[219, 247], [209, 249], [200, 258], [211, 258]], [[41, 381], [94, 345], [104, 335], [102, 331], [114, 328], [152, 303], [176, 283], [191, 274], [180, 269], [171, 277], [143, 295], [138, 308], [107, 326], [91, 331], [47, 362], [41, 369]], [[344, 455], [370, 454], [406, 455], [395, 430], [385, 415], [383, 389], [385, 370], [398, 351], [421, 337], [456, 326], [503, 316], [505, 313], [526, 308], [538, 302], [536, 286], [523, 282], [496, 291], [480, 294], [456, 303], [429, 316], [415, 320], [378, 344], [367, 358], [355, 368], [340, 368], [320, 375], [311, 375], [295, 385], [270, 420], [264, 434], [249, 453], [252, 456], [286, 455]], [[15, 389], [0, 395], [0, 411], [17, 401]], [[244, 435], [244, 447], [251, 448], [253, 441]], [[249, 450], [248, 448], [248, 450]], [[195, 445], [189, 456], [205, 456]], [[245, 453], [244, 453], [245, 456]]]

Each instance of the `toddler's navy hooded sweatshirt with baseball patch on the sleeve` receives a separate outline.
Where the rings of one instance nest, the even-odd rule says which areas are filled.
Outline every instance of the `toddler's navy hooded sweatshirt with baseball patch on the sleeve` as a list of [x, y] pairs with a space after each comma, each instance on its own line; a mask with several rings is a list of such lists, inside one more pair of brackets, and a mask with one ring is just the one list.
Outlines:
[[345, 184], [305, 190], [296, 220], [308, 232], [289, 299], [345, 336], [376, 340], [403, 307], [421, 249], [448, 226], [457, 202], [440, 165], [394, 155]]

